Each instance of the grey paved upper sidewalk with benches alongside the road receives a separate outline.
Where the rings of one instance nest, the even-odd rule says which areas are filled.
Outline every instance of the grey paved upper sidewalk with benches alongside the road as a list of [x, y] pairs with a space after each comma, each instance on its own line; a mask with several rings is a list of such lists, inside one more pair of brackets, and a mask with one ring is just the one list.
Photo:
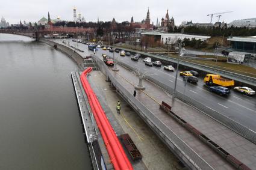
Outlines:
[[[134, 85], [137, 85], [138, 79], [134, 75], [119, 65], [118, 72], [113, 71], [113, 75], [122, 83], [128, 91], [133, 94]], [[133, 85], [132, 85], [132, 84]], [[172, 106], [172, 111], [183, 118], [192, 126], [196, 127], [208, 138], [212, 139], [216, 144], [220, 145], [228, 153], [235, 156], [245, 165], [251, 169], [256, 169], [256, 145], [247, 139], [243, 138], [232, 130], [228, 129], [217, 121], [212, 120], [210, 117], [202, 114], [198, 110], [189, 105], [184, 104], [178, 99], [172, 100], [169, 93], [163, 91], [160, 87], [148, 82], [143, 81], [146, 86], [144, 92], [137, 91], [137, 99], [143, 103], [149, 110], [151, 110], [163, 123], [165, 123], [176, 135], [186, 142], [196, 153], [199, 154], [207, 163], [213, 166], [214, 169], [233, 169], [233, 166], [226, 162], [219, 154], [213, 151], [210, 147], [199, 141], [192, 133], [184, 129], [183, 126], [178, 124], [169, 115], [159, 109], [161, 101], [168, 103]]]

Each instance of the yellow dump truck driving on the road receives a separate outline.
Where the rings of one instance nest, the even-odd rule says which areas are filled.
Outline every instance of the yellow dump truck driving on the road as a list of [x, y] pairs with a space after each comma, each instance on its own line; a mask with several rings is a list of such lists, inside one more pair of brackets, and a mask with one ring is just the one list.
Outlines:
[[205, 85], [219, 85], [222, 87], [232, 87], [235, 85], [234, 80], [228, 80], [220, 77], [220, 75], [217, 74], [207, 74], [204, 77], [204, 83]]

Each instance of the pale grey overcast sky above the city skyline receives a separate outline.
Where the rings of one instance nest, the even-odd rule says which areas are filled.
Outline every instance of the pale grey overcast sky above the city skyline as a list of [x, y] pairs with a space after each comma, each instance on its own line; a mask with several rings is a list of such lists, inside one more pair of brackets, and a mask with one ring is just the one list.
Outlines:
[[[112, 20], [117, 22], [124, 20], [141, 21], [145, 19], [149, 7], [151, 23], [156, 23], [165, 16], [169, 9], [169, 16], [175, 19], [175, 25], [182, 21], [208, 23], [210, 16], [207, 14], [233, 11], [220, 17], [220, 21], [231, 22], [235, 19], [256, 17], [256, 0], [0, 0], [0, 16], [10, 23], [18, 23], [19, 20], [37, 22], [43, 16], [47, 18], [48, 11], [52, 19], [60, 16], [63, 20], [73, 20], [73, 7], [77, 13], [81, 12], [86, 21]], [[217, 17], [213, 17], [216, 22]]]

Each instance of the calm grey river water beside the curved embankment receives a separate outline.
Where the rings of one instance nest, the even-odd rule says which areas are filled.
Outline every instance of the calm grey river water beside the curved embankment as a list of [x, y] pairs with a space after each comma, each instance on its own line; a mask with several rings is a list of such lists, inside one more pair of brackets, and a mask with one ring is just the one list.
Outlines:
[[70, 72], [52, 47], [0, 34], [0, 169], [92, 169]]

